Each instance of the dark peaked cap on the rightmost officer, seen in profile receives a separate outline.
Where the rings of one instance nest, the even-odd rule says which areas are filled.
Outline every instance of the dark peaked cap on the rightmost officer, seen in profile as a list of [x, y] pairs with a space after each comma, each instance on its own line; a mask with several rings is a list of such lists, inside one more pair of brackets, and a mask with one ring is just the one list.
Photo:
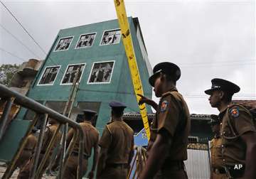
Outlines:
[[240, 91], [240, 87], [235, 85], [233, 82], [229, 82], [228, 80], [223, 80], [220, 78], [214, 78], [211, 80], [212, 86], [210, 89], [205, 91], [206, 94], [212, 94], [215, 90], [223, 90], [224, 92], [229, 92], [230, 94], [234, 94]]

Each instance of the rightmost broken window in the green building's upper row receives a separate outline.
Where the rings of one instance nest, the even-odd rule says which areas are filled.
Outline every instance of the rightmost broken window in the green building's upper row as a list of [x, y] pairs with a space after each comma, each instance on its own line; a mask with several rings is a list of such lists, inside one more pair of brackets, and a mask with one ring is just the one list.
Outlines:
[[110, 45], [119, 43], [121, 39], [121, 30], [115, 29], [112, 31], [105, 31], [102, 36], [102, 41], [100, 45]]

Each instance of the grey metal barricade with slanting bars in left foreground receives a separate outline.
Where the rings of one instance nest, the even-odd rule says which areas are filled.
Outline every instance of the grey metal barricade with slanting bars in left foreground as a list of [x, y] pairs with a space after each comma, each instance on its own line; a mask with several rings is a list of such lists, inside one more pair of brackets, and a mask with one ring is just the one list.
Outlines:
[[[65, 124], [68, 124], [70, 127], [72, 127], [75, 131], [75, 134], [73, 136], [72, 141], [70, 142], [70, 145], [68, 146], [68, 151], [65, 154], [65, 157], [63, 159], [64, 167], [62, 168], [62, 170], [59, 171], [60, 172], [59, 178], [62, 178], [63, 172], [65, 170], [65, 165], [68, 161], [68, 157], [70, 156], [73, 146], [75, 146], [75, 141], [78, 138], [79, 138], [78, 178], [79, 179], [82, 178], [82, 153], [84, 151], [84, 146], [85, 146], [85, 143], [84, 143], [85, 136], [82, 132], [81, 126], [77, 122], [68, 119], [68, 117], [66, 117], [62, 114], [59, 114], [58, 112], [55, 112], [53, 109], [45, 107], [45, 106], [43, 106], [43, 104], [40, 104], [40, 103], [34, 101], [33, 99], [23, 96], [23, 95], [19, 94], [18, 92], [11, 90], [4, 85], [0, 85], [0, 97], [1, 97], [1, 99], [4, 99], [7, 101], [5, 108], [4, 108], [4, 112], [0, 119], [1, 120], [0, 121], [0, 123], [1, 123], [0, 124], [0, 142], [1, 142], [1, 138], [4, 136], [4, 131], [6, 129], [6, 124], [7, 124], [6, 121], [8, 119], [9, 113], [11, 111], [11, 105], [13, 104], [14, 100], [15, 100], [16, 104], [21, 105], [21, 107], [26, 107], [27, 109], [31, 109], [34, 112], [36, 112], [36, 117], [35, 117], [35, 119], [33, 119], [30, 126], [28, 127], [28, 130], [26, 131], [26, 135], [21, 140], [18, 151], [16, 151], [14, 157], [11, 160], [11, 163], [6, 168], [4, 176], [2, 177], [3, 179], [10, 178], [12, 173], [14, 172], [16, 161], [18, 160], [18, 157], [21, 155], [21, 152], [23, 151], [23, 148], [26, 144], [26, 137], [31, 133], [33, 126], [35, 126], [35, 124], [38, 120], [43, 121], [43, 126], [42, 126], [42, 129], [40, 130], [40, 134], [38, 136], [35, 160], [33, 163], [33, 170], [32, 170], [30, 178], [37, 179], [41, 176], [41, 174], [43, 172], [43, 166], [45, 165], [46, 160], [50, 154], [50, 150], [51, 150], [51, 148], [53, 148], [53, 145], [58, 137], [58, 132], [60, 131], [60, 126], [65, 125]], [[41, 146], [43, 143], [43, 136], [44, 136], [46, 121], [47, 121], [48, 117], [55, 119], [60, 124], [58, 124], [58, 129], [53, 134], [52, 139], [50, 139], [50, 143], [48, 144], [48, 148], [46, 149], [46, 152], [44, 153], [43, 160], [41, 161], [40, 165], [38, 166], [39, 155], [41, 153]]]

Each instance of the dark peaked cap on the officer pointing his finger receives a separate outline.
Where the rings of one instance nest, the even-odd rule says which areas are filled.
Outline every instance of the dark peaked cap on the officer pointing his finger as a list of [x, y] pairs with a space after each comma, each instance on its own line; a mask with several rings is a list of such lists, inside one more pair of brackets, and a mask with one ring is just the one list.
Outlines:
[[163, 62], [159, 63], [153, 68], [153, 75], [149, 77], [149, 84], [154, 87], [154, 82], [156, 81], [156, 77], [160, 73], [164, 73], [165, 75], [171, 76], [175, 81], [177, 81], [181, 77], [181, 69], [175, 65], [174, 63]]

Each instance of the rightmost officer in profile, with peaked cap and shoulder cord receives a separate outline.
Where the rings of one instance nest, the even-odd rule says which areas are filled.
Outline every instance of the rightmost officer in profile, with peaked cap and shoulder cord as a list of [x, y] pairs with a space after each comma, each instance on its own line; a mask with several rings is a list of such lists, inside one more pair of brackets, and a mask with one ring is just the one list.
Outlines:
[[240, 87], [228, 80], [215, 78], [205, 92], [211, 107], [220, 114], [221, 150], [223, 159], [218, 170], [225, 170], [227, 178], [256, 178], [256, 129], [250, 112], [240, 104], [231, 104], [233, 94]]

